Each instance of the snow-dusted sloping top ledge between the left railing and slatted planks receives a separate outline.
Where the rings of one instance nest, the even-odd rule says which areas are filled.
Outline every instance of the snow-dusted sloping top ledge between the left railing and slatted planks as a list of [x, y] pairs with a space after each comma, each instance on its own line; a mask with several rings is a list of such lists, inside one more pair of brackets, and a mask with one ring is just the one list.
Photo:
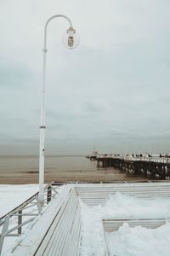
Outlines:
[[71, 189], [71, 185], [63, 185], [57, 189], [58, 194], [55, 198], [45, 206], [31, 224], [26, 228], [24, 234], [20, 236], [12, 246], [4, 249], [4, 256], [21, 256], [21, 255], [34, 255], [35, 248], [41, 244], [44, 234], [48, 232], [50, 224], [54, 221], [56, 212], [59, 212], [65, 197], [68, 195], [68, 191]]

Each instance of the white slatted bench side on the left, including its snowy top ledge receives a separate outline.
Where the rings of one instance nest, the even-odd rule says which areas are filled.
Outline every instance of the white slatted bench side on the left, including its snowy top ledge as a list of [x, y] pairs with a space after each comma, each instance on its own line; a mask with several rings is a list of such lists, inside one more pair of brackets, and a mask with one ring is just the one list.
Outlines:
[[[41, 217], [5, 256], [77, 256], [81, 241], [80, 205], [74, 185], [61, 187], [54, 200], [44, 207]], [[21, 244], [21, 246], [20, 246]]]

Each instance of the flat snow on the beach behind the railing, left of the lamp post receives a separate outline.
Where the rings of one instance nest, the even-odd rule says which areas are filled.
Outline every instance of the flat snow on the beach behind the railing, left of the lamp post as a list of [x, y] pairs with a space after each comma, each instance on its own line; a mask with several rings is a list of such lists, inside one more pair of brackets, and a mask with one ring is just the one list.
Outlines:
[[0, 185], [0, 218], [38, 191], [37, 184]]

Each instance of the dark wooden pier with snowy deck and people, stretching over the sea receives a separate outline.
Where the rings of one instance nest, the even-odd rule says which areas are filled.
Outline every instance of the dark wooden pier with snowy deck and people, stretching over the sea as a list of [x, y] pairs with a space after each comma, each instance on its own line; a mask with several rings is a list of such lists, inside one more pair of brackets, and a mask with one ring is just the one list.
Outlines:
[[97, 166], [115, 169], [150, 179], [170, 179], [170, 158], [166, 156], [152, 157], [150, 155], [98, 155]]

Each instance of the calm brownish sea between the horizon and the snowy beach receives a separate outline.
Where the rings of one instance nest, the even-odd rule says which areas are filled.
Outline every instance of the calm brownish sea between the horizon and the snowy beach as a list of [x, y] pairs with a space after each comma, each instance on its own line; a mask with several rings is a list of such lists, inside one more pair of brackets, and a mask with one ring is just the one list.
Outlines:
[[[127, 176], [113, 168], [96, 167], [85, 157], [46, 157], [45, 183], [55, 182], [116, 182], [144, 180]], [[0, 156], [1, 184], [38, 183], [37, 156]]]

